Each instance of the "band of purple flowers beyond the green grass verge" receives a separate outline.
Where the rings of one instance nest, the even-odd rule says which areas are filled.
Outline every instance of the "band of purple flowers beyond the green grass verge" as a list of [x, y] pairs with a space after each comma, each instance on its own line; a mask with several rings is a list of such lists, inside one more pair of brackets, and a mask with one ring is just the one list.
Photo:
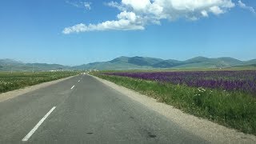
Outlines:
[[239, 90], [256, 94], [256, 70], [106, 73], [186, 86]]

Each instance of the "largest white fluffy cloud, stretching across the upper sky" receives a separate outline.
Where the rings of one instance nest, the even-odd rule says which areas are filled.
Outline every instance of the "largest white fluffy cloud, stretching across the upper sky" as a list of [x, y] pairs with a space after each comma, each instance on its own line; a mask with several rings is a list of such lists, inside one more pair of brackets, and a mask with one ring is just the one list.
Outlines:
[[66, 27], [64, 34], [94, 30], [144, 30], [148, 24], [160, 24], [162, 19], [174, 21], [178, 18], [198, 20], [210, 14], [226, 13], [234, 7], [232, 0], [122, 0], [108, 2], [120, 10], [117, 20], [98, 24], [78, 24]]

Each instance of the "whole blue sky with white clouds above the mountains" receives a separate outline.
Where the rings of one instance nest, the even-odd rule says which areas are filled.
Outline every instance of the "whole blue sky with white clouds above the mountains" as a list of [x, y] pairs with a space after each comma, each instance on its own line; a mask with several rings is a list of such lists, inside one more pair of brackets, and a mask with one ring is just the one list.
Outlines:
[[0, 58], [70, 66], [119, 56], [256, 58], [256, 2], [209, 2], [3, 0]]

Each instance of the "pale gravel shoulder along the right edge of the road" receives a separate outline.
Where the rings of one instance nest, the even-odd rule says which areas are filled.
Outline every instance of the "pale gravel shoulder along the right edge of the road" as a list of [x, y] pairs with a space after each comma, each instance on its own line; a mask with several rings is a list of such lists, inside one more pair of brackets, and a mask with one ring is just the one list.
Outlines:
[[[92, 76], [94, 77], [94, 76]], [[118, 92], [128, 96], [134, 101], [142, 103], [142, 105], [148, 107], [151, 110], [156, 111], [158, 114], [162, 114], [166, 118], [169, 118], [172, 122], [181, 126], [182, 129], [204, 138], [212, 143], [256, 143], [256, 136], [252, 134], [243, 134], [237, 130], [220, 126], [209, 120], [195, 117], [194, 115], [185, 114], [182, 110], [178, 110], [173, 106], [166, 105], [165, 103], [157, 102], [156, 99], [147, 97], [143, 94], [138, 94], [134, 90], [127, 89], [123, 86], [118, 86], [113, 82], [106, 81], [102, 78], [96, 78], [99, 82], [102, 82], [106, 86], [117, 90]]]

